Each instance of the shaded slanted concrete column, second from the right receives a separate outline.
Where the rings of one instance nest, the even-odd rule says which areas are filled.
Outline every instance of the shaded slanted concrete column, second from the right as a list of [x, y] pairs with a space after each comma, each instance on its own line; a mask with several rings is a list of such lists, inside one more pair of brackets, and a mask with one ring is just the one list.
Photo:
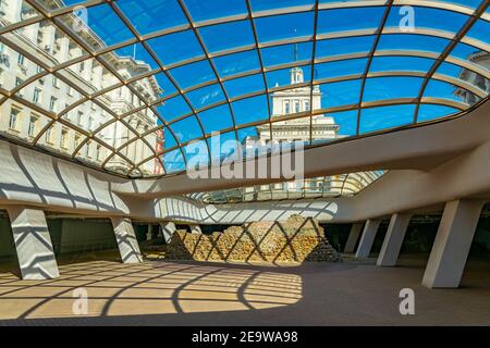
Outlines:
[[383, 246], [378, 257], [378, 265], [394, 266], [396, 264], [411, 217], [411, 214], [399, 213], [391, 216], [387, 236], [384, 237]]

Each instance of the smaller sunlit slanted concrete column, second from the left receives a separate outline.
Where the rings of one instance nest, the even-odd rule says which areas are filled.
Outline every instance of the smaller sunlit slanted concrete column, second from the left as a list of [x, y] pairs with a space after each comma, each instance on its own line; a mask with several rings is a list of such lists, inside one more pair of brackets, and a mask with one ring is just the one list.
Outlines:
[[139, 263], [143, 261], [142, 252], [139, 251], [136, 234], [130, 219], [111, 217], [112, 226], [114, 227], [115, 241], [119, 246], [121, 260], [123, 263]]

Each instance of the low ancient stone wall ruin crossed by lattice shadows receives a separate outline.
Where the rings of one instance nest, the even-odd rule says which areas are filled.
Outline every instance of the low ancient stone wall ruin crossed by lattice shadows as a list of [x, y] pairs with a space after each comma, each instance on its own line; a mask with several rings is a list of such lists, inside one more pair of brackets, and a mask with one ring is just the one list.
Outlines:
[[177, 231], [166, 259], [196, 261], [341, 261], [314, 219], [292, 215], [285, 222], [254, 222], [224, 233], [196, 235]]

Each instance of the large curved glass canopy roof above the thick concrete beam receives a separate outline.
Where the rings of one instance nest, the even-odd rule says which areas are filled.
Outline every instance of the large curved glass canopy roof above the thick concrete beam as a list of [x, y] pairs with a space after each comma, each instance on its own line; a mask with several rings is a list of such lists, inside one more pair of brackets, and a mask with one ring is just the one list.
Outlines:
[[0, 134], [152, 177], [453, 116], [490, 91], [489, 2], [0, 1]]

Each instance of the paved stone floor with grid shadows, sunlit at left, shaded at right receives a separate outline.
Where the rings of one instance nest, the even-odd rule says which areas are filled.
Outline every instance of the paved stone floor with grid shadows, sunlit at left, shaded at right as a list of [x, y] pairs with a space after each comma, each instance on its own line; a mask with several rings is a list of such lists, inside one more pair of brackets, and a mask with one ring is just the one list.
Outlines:
[[[52, 281], [0, 273], [0, 325], [490, 325], [490, 264], [469, 263], [460, 289], [420, 285], [424, 263], [272, 266], [196, 262], [60, 266]], [[416, 314], [399, 312], [402, 288]], [[88, 312], [76, 289], [86, 290]], [[78, 290], [79, 291], [79, 290]]]

